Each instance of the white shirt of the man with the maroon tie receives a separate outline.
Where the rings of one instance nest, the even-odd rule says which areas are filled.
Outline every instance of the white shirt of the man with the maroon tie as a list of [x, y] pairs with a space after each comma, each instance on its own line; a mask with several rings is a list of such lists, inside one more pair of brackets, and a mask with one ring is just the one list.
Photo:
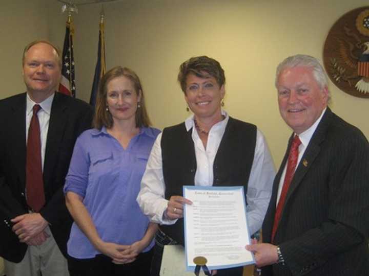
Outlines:
[[[41, 140], [41, 160], [42, 160], [42, 168], [44, 170], [44, 160], [45, 160], [45, 150], [46, 150], [46, 139], [47, 133], [49, 130], [49, 121], [50, 121], [50, 113], [51, 113], [51, 105], [54, 99], [55, 93], [53, 93], [49, 98], [44, 100], [43, 102], [38, 103], [41, 107], [37, 112], [38, 122], [40, 125], [40, 140]], [[33, 106], [37, 104], [31, 100], [27, 93], [26, 100], [26, 145], [28, 139], [28, 129], [31, 123], [32, 115], [33, 115]]]

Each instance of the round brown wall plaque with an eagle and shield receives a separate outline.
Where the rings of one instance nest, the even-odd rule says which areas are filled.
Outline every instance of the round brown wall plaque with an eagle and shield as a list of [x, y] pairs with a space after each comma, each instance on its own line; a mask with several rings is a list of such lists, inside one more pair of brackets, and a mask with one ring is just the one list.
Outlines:
[[369, 7], [347, 12], [335, 22], [324, 43], [323, 61], [338, 88], [369, 98]]

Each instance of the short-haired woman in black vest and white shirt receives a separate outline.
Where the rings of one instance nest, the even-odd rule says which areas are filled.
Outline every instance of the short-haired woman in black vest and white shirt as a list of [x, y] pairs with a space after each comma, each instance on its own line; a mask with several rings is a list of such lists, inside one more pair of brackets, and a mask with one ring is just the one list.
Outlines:
[[[161, 224], [152, 276], [159, 275], [163, 245], [184, 244], [183, 204], [191, 201], [182, 197], [182, 186], [244, 186], [250, 233], [255, 233], [267, 211], [275, 175], [262, 133], [222, 110], [226, 78], [218, 61], [190, 58], [181, 64], [178, 81], [194, 114], [158, 135], [137, 197], [142, 211]], [[242, 275], [242, 267], [218, 270], [217, 275]]]

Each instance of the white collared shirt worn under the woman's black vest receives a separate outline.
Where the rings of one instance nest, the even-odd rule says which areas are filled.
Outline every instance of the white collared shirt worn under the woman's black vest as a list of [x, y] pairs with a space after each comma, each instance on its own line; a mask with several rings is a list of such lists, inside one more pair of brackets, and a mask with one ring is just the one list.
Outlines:
[[[190, 130], [192, 128], [192, 140], [195, 147], [197, 163], [194, 179], [195, 186], [213, 185], [213, 163], [229, 120], [228, 114], [223, 110], [222, 114], [225, 116], [225, 119], [210, 129], [206, 149], [196, 131], [193, 116], [190, 116], [185, 121], [186, 129]], [[151, 221], [160, 224], [174, 224], [176, 220], [163, 218], [163, 213], [168, 206], [168, 200], [165, 199], [166, 187], [162, 172], [160, 143], [161, 133], [157, 136], [151, 150], [146, 171], [141, 180], [141, 190], [137, 196], [137, 202], [142, 212]], [[263, 134], [257, 130], [255, 154], [247, 190], [247, 219], [250, 233], [252, 234], [261, 228], [272, 195], [274, 176], [275, 169], [268, 145]]]

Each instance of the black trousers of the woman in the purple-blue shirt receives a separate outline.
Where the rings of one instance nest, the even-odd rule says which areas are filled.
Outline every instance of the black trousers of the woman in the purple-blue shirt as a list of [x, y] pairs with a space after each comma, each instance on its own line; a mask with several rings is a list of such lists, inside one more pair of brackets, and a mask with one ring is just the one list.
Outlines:
[[129, 264], [114, 264], [105, 255], [96, 255], [91, 259], [68, 257], [70, 276], [149, 276], [153, 249], [140, 253], [137, 259]]

